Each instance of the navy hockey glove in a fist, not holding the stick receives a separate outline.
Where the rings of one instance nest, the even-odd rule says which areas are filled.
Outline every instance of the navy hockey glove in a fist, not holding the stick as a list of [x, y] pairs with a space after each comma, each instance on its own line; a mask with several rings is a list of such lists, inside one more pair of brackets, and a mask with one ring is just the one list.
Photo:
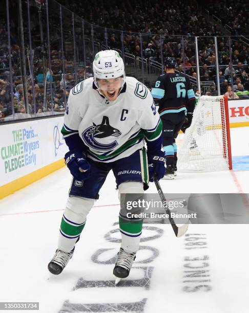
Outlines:
[[90, 164], [87, 162], [84, 152], [67, 152], [65, 163], [77, 181], [85, 181], [91, 176]]

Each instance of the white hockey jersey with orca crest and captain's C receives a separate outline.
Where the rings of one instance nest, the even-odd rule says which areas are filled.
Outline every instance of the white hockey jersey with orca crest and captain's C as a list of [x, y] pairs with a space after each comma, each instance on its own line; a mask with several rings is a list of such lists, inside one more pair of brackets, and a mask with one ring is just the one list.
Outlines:
[[161, 129], [151, 93], [137, 79], [126, 77], [117, 99], [108, 101], [88, 78], [70, 91], [61, 132], [68, 140], [78, 134], [90, 159], [113, 162], [141, 149], [144, 138], [157, 140]]

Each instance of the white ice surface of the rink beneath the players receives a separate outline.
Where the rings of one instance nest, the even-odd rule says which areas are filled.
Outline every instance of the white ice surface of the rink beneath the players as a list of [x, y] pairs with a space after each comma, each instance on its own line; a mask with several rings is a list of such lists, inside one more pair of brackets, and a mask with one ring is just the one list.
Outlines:
[[[238, 161], [249, 155], [249, 127], [232, 128], [231, 137], [237, 170], [179, 173], [160, 181], [164, 193], [249, 193], [249, 171]], [[39, 302], [43, 313], [248, 312], [248, 225], [190, 225], [181, 238], [170, 225], [146, 225], [129, 278], [114, 285], [120, 235], [112, 173], [73, 258], [61, 275], [50, 274], [70, 183], [63, 168], [1, 200], [0, 302]]]

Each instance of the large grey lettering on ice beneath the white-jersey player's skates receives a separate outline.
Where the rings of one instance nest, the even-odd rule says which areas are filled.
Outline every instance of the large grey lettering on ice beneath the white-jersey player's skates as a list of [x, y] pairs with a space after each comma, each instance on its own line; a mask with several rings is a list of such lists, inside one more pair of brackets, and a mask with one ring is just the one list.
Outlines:
[[[118, 222], [113, 223], [112, 226], [113, 227], [118, 226]], [[163, 234], [163, 230], [158, 227], [144, 226], [143, 231], [154, 231], [156, 232], [156, 235], [148, 236], [146, 234], [144, 237], [141, 238], [143, 239], [143, 240], [140, 240], [141, 242], [158, 239]], [[110, 234], [114, 234], [117, 232], [119, 232], [119, 228], [110, 230], [108, 233], [104, 235], [104, 238], [108, 242], [111, 241], [114, 243], [118, 243], [119, 245], [120, 239], [113, 238], [110, 235]], [[98, 249], [96, 252], [93, 253], [91, 257], [92, 262], [94, 262], [95, 264], [99, 264], [101, 267], [105, 265], [109, 265], [109, 264], [115, 264], [116, 253], [117, 253], [116, 248], [118, 247], [111, 248], [111, 249], [106, 249], [106, 248]], [[152, 256], [150, 257], [146, 256], [145, 258], [143, 257], [142, 260], [140, 259], [141, 256], [138, 256], [138, 258], [134, 262], [135, 266], [132, 267], [129, 277], [122, 279], [118, 285], [115, 285], [114, 279], [111, 279], [111, 280], [105, 280], [101, 278], [98, 279], [97, 271], [95, 273], [94, 272], [92, 273], [92, 277], [94, 277], [94, 279], [92, 280], [85, 279], [84, 277], [79, 277], [71, 293], [77, 293], [80, 289], [83, 289], [83, 290], [85, 288], [90, 289], [90, 292], [92, 290], [92, 294], [96, 297], [96, 303], [94, 303], [94, 301], [92, 300], [92, 297], [90, 297], [91, 303], [79, 303], [80, 300], [78, 300], [79, 302], [74, 303], [75, 301], [77, 301], [77, 298], [74, 298], [74, 302], [71, 300], [65, 300], [63, 303], [63, 306], [61, 307], [58, 313], [74, 312], [74, 311], [80, 311], [80, 312], [122, 311], [122, 312], [137, 312], [137, 313], [143, 312], [144, 306], [146, 305], [147, 300], [149, 300], [148, 295], [150, 294], [148, 294], [148, 290], [150, 290], [151, 278], [152, 278], [152, 274], [154, 271], [154, 266], [142, 266], [141, 265], [138, 267], [136, 266], [136, 264], [152, 263], [159, 256], [159, 251], [156, 248], [151, 247], [149, 245], [148, 246], [140, 245], [139, 251], [141, 250], [143, 251], [149, 250], [150, 252], [152, 251]], [[104, 258], [104, 261], [99, 260], [99, 257], [101, 255], [104, 255], [102, 256]], [[109, 267], [108, 269], [110, 270]], [[110, 276], [111, 275], [112, 274], [110, 272]], [[123, 289], [123, 287], [124, 288], [133, 288], [133, 287], [141, 288], [141, 294], [138, 296], [139, 298], [141, 297], [140, 301], [131, 301], [131, 298], [129, 296], [126, 296], [126, 293], [124, 293], [125, 289]], [[113, 302], [113, 303], [108, 302], [108, 299], [105, 299], [105, 298], [104, 299], [106, 301], [99, 299], [99, 297], [97, 296], [99, 290], [96, 290], [95, 288], [105, 288], [106, 290], [108, 290], [108, 292], [111, 291], [111, 293], [112, 293], [112, 290], [113, 292], [116, 290], [115, 297], [114, 297], [115, 299], [114, 301], [116, 302]], [[112, 288], [112, 289], [109, 290], [107, 288]], [[134, 289], [134, 292], [135, 292], [135, 289]], [[119, 299], [122, 299], [122, 300], [118, 302]]]

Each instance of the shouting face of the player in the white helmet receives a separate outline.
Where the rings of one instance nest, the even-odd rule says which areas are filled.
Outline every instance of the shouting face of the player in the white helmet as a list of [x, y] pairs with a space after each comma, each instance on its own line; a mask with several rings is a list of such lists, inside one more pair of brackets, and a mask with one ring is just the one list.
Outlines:
[[114, 101], [117, 99], [121, 85], [122, 77], [110, 79], [98, 79], [99, 89], [101, 93], [109, 100]]

